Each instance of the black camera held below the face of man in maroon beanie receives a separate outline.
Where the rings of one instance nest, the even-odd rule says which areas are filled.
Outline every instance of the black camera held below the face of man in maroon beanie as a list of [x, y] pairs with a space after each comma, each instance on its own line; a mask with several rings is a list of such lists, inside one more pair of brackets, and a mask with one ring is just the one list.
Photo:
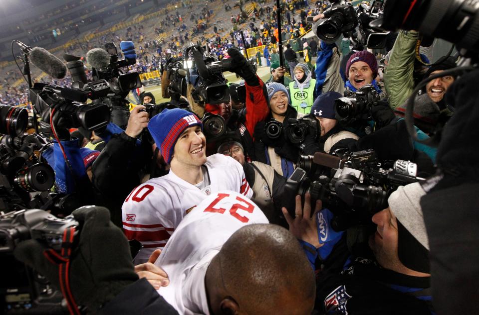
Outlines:
[[379, 93], [372, 84], [367, 84], [356, 92], [334, 101], [336, 119], [345, 123], [371, 119], [371, 109], [380, 100]]

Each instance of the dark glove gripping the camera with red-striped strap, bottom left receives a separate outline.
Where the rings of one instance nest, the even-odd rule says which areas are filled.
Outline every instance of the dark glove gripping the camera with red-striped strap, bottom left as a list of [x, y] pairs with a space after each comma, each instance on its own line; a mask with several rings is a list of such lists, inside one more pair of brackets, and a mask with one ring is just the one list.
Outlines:
[[[95, 312], [138, 280], [138, 275], [134, 272], [128, 241], [110, 221], [106, 208], [85, 206], [72, 214], [79, 222], [80, 231], [78, 245], [70, 255], [69, 291], [78, 305]], [[59, 265], [46, 258], [51, 258], [48, 250], [46, 245], [30, 239], [20, 242], [13, 253], [59, 289]]]

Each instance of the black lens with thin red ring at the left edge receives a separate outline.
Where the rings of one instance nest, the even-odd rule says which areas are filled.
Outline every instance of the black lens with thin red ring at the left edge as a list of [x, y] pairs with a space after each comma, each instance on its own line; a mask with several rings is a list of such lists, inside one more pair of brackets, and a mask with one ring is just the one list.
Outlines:
[[25, 108], [0, 105], [0, 134], [20, 136], [28, 126], [28, 112]]

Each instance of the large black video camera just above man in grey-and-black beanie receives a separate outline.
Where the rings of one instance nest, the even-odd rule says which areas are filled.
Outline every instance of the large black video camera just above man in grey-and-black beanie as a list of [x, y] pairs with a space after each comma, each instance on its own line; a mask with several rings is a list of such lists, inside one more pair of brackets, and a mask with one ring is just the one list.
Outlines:
[[[300, 195], [311, 194], [311, 205], [321, 200], [323, 207], [331, 210], [336, 218], [332, 222], [335, 230], [344, 230], [359, 223], [370, 222], [371, 216], [387, 208], [387, 198], [399, 186], [421, 180], [416, 177], [417, 165], [397, 160], [378, 163], [373, 150], [345, 152], [341, 157], [315, 153], [301, 156], [297, 168], [287, 179], [283, 191], [283, 205], [294, 216], [294, 200]], [[331, 176], [320, 175], [318, 167], [337, 166]], [[323, 163], [327, 161], [327, 163]], [[326, 165], [327, 164], [327, 165]]]

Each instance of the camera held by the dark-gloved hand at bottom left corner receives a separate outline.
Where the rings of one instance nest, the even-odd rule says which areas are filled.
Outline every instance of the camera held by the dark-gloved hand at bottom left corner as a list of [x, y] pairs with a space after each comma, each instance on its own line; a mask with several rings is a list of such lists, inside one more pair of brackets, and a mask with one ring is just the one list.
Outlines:
[[78, 225], [72, 216], [59, 219], [38, 209], [0, 214], [0, 257], [8, 270], [0, 286], [0, 307], [5, 314], [68, 314], [61, 293], [43, 276], [16, 261], [12, 251], [27, 239], [36, 239], [59, 251], [63, 231]]

